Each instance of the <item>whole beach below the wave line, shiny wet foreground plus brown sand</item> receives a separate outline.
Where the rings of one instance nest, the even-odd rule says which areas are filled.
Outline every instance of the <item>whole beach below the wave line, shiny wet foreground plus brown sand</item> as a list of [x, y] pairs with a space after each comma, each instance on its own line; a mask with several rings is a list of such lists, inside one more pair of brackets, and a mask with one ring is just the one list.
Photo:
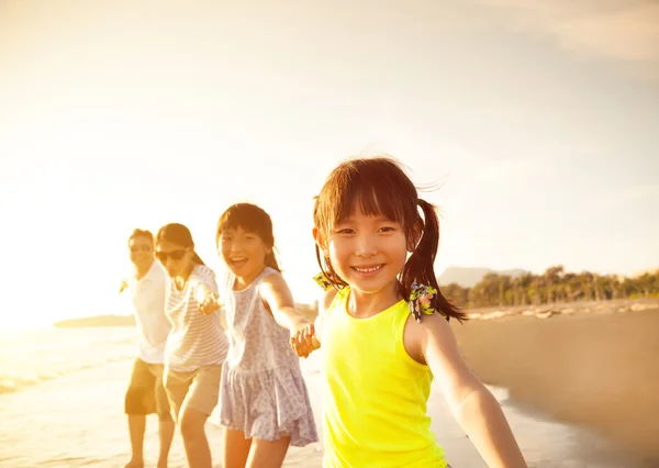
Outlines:
[[[555, 313], [537, 316], [518, 308], [495, 320], [451, 321], [462, 355], [502, 404], [529, 467], [658, 466], [659, 423], [652, 415], [659, 414], [659, 299], [545, 308]], [[319, 357], [315, 353], [301, 366], [321, 431]], [[0, 465], [123, 466], [130, 365], [131, 359], [119, 359], [0, 394]], [[428, 414], [449, 463], [484, 467], [436, 387]], [[214, 413], [208, 426], [216, 461], [222, 449], [217, 421]], [[155, 422], [149, 419], [145, 441], [149, 460], [156, 456]], [[291, 448], [284, 466], [314, 467], [321, 459], [322, 443], [312, 444]], [[177, 435], [170, 468], [183, 466]]]

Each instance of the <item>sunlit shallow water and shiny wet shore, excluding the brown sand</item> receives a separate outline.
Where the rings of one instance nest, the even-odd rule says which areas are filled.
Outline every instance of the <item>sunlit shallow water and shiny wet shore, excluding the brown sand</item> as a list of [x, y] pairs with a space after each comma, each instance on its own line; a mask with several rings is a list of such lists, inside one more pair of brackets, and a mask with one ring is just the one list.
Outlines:
[[[116, 468], [130, 457], [123, 398], [136, 352], [136, 330], [48, 328], [0, 332], [0, 467]], [[302, 370], [316, 424], [322, 431], [319, 355]], [[580, 427], [527, 413], [507, 391], [490, 387], [532, 468], [649, 468], [607, 441]], [[483, 468], [434, 385], [428, 414], [432, 430], [453, 466]], [[222, 428], [215, 412], [209, 419], [214, 467], [220, 467]], [[155, 416], [147, 423], [145, 457], [155, 466], [158, 434]], [[181, 438], [175, 436], [171, 468], [186, 467]], [[284, 467], [321, 466], [322, 444], [289, 452]]]

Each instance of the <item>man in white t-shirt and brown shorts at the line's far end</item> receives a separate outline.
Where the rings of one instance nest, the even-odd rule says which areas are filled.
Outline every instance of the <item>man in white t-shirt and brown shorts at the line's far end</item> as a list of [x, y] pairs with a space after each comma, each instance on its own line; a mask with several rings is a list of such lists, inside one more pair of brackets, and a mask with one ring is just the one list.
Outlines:
[[158, 468], [166, 468], [175, 427], [163, 386], [165, 344], [171, 328], [165, 315], [166, 272], [160, 263], [155, 260], [154, 236], [150, 232], [135, 230], [129, 238], [129, 250], [134, 268], [122, 282], [120, 293], [124, 289], [131, 293], [139, 332], [139, 349], [125, 398], [132, 448], [132, 457], [125, 468], [144, 467], [146, 415], [152, 413], [158, 414], [159, 419]]

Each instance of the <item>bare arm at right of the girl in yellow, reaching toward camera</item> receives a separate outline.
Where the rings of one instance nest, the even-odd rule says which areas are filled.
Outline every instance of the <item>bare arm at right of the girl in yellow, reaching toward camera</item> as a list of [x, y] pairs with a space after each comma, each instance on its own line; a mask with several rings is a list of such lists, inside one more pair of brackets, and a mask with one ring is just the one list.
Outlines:
[[[491, 468], [526, 468], [501, 405], [467, 366], [450, 326], [440, 314], [407, 323], [411, 355], [418, 353], [442, 387], [446, 401]], [[407, 341], [407, 338], [410, 338]]]

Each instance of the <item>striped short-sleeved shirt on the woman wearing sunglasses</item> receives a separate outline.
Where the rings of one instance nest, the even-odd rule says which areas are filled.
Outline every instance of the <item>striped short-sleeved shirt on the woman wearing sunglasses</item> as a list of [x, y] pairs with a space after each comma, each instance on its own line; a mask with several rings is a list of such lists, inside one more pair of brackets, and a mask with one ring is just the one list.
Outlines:
[[165, 347], [165, 364], [178, 371], [197, 370], [202, 366], [224, 363], [228, 343], [220, 325], [220, 313], [204, 315], [199, 310], [197, 290], [205, 285], [217, 293], [215, 275], [205, 265], [196, 265], [182, 290], [167, 279], [165, 313], [171, 332]]

